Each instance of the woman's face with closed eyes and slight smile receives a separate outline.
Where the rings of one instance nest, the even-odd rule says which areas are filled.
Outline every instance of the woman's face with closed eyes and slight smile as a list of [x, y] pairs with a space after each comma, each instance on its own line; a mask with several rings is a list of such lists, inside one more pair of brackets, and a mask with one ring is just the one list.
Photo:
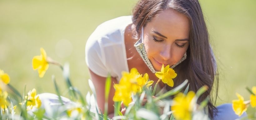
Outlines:
[[160, 71], [162, 64], [175, 65], [189, 47], [189, 19], [168, 9], [159, 12], [144, 27], [144, 44], [147, 56], [155, 68]]

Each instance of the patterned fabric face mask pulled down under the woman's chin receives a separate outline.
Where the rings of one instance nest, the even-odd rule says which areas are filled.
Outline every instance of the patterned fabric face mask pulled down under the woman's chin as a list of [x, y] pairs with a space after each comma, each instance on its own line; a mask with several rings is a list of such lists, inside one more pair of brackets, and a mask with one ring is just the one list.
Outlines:
[[[140, 57], [142, 58], [142, 60], [145, 62], [145, 64], [148, 66], [148, 68], [151, 70], [152, 73], [156, 73], [157, 71], [154, 69], [154, 67], [152, 66], [151, 62], [148, 59], [146, 50], [145, 50], [145, 46], [144, 46], [144, 42], [143, 42], [143, 27], [141, 28], [141, 36], [140, 39], [134, 44], [134, 47], [136, 48], [136, 50], [138, 51], [138, 53], [140, 54]], [[179, 65], [182, 61], [184, 61], [187, 58], [187, 54], [185, 52], [184, 56], [182, 57], [182, 59], [177, 62], [175, 65], [170, 66], [170, 68], [174, 68], [175, 66]]]

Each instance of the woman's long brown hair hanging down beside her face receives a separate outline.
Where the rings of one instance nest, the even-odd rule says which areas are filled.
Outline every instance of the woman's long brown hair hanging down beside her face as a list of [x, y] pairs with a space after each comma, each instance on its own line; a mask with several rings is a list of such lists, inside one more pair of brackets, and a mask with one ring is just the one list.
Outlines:
[[[178, 74], [174, 79], [174, 87], [181, 84], [185, 79], [189, 80], [189, 89], [195, 92], [203, 85], [207, 85], [209, 89], [199, 97], [198, 102], [202, 102], [207, 96], [210, 97], [208, 112], [209, 117], [213, 118], [214, 113], [217, 112], [217, 109], [213, 105], [214, 101], [216, 102], [216, 98], [214, 99], [213, 96], [217, 97], [219, 80], [199, 1], [140, 0], [134, 7], [132, 18], [136, 28], [136, 34], [140, 36], [139, 33], [142, 26], [146, 26], [158, 12], [166, 9], [174, 9], [190, 19], [190, 46], [187, 50], [187, 59], [174, 68]], [[214, 86], [214, 83], [216, 86]], [[211, 93], [213, 88], [215, 88], [215, 93]]]

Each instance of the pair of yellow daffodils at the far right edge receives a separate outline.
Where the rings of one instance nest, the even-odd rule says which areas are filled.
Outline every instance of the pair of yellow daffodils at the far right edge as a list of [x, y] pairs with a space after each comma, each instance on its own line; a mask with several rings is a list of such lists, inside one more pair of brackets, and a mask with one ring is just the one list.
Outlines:
[[256, 106], [256, 86], [252, 88], [250, 100], [244, 101], [244, 97], [236, 93], [237, 100], [232, 101], [232, 107], [234, 112], [241, 116], [248, 108], [249, 104], [254, 108]]

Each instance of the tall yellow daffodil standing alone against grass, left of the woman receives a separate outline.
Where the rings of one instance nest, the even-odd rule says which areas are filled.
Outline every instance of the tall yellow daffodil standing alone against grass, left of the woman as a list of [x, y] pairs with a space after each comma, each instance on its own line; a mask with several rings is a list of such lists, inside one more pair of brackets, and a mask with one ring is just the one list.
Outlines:
[[33, 70], [38, 70], [39, 77], [42, 78], [49, 67], [47, 55], [43, 48], [40, 49], [41, 55], [34, 56], [32, 59]]

